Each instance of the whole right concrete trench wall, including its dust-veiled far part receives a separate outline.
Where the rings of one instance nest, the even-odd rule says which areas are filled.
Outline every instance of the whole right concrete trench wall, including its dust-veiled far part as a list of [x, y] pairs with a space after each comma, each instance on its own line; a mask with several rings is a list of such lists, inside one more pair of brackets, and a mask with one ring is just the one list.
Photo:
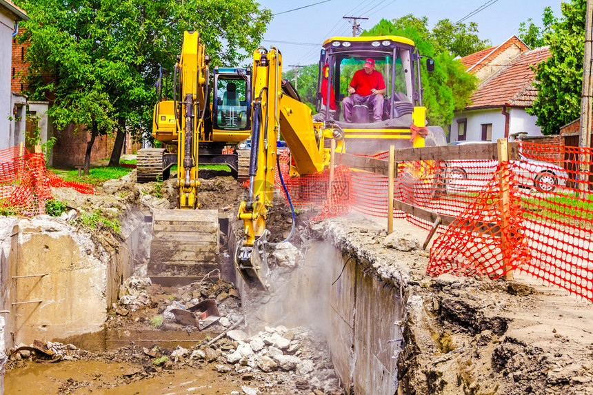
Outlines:
[[371, 267], [330, 243], [317, 241], [310, 244], [298, 269], [274, 267], [273, 289], [263, 304], [258, 292], [248, 296], [253, 291], [237, 274], [246, 327], [257, 332], [281, 321], [287, 327], [319, 330], [328, 340], [345, 389], [357, 395], [395, 394], [393, 357], [401, 350], [399, 321], [404, 310], [399, 289], [371, 272]]

